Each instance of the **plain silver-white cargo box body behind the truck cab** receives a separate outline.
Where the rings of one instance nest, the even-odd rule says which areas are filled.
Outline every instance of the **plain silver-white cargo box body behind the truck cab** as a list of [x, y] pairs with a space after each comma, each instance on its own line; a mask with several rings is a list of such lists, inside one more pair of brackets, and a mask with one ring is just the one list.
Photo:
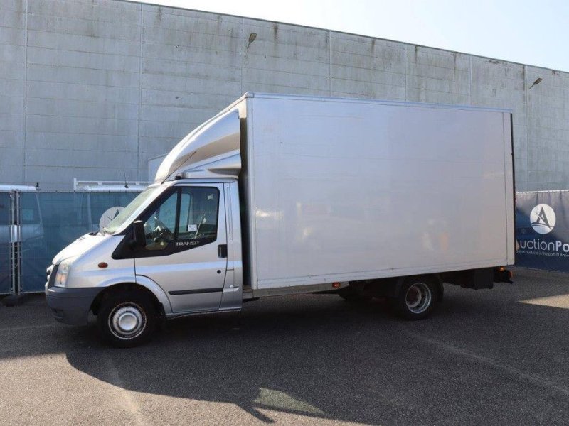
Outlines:
[[231, 109], [253, 290], [514, 263], [509, 111], [269, 94]]

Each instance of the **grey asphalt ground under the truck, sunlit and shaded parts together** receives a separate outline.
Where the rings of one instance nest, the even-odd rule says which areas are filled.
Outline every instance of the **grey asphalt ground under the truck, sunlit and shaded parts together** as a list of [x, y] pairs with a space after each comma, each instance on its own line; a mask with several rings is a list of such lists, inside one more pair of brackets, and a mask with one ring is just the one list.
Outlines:
[[272, 297], [112, 349], [42, 297], [0, 307], [1, 425], [567, 425], [569, 275], [445, 286], [429, 319]]

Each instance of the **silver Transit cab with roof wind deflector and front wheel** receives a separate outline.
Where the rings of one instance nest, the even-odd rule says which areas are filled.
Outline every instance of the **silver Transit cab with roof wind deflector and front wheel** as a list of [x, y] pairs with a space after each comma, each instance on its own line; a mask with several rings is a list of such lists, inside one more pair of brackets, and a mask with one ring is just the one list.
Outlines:
[[239, 310], [243, 301], [240, 123], [225, 111], [184, 138], [147, 187], [105, 228], [53, 258], [55, 319], [97, 315], [116, 346], [149, 338], [160, 317]]

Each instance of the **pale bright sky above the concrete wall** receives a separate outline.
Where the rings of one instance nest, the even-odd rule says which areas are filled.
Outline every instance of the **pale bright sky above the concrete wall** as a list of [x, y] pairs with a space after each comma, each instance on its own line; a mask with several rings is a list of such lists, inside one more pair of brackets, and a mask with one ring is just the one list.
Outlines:
[[153, 0], [569, 71], [565, 0]]

